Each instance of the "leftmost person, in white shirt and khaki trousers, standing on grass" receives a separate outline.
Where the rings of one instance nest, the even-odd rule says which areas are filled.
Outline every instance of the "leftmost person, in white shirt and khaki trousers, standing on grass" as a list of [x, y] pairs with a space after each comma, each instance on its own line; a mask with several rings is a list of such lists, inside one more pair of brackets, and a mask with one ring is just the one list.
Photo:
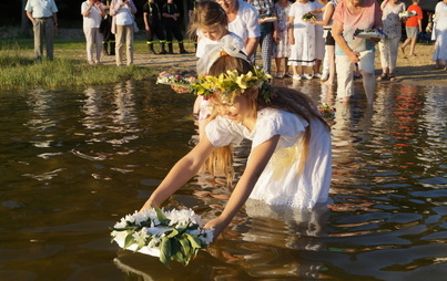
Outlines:
[[45, 41], [47, 58], [52, 61], [54, 33], [58, 32], [58, 7], [54, 0], [28, 0], [24, 10], [32, 22], [35, 60], [42, 61], [43, 41]]

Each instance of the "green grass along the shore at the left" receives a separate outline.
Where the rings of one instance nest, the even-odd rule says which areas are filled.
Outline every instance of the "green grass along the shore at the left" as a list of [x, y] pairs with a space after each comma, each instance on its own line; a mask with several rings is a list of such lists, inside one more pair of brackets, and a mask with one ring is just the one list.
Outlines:
[[[145, 48], [135, 42], [135, 51]], [[124, 80], [148, 80], [156, 70], [145, 66], [89, 65], [83, 40], [55, 40], [54, 60], [37, 63], [32, 39], [0, 41], [0, 87], [23, 89], [110, 84]]]

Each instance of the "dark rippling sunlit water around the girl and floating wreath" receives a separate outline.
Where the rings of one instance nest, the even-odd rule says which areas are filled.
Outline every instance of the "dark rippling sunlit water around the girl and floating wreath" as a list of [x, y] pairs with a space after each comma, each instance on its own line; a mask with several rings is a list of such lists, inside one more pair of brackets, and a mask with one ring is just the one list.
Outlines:
[[[317, 81], [286, 86], [333, 102]], [[327, 210], [248, 202], [221, 240], [171, 270], [120, 250], [109, 227], [189, 152], [193, 102], [153, 82], [3, 91], [0, 279], [445, 280], [447, 90], [393, 83], [377, 85], [372, 108], [364, 95], [335, 104]], [[247, 147], [236, 150], [238, 174]], [[230, 194], [201, 175], [166, 207], [210, 219]]]

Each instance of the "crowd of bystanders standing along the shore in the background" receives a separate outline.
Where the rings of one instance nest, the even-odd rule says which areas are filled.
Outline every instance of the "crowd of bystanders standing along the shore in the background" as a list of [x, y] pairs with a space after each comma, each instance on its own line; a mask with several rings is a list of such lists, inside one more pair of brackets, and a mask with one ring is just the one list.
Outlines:
[[[187, 1], [190, 31], [199, 2]], [[413, 0], [408, 8], [400, 0], [383, 0], [380, 4], [377, 0], [216, 2], [227, 15], [228, 31], [241, 38], [244, 51], [253, 62], [260, 48], [262, 62], [257, 63], [266, 73], [276, 79], [321, 79], [329, 85], [337, 82], [338, 97], [352, 94], [355, 77], [363, 77], [367, 96], [372, 96], [376, 80], [395, 81], [398, 52], [404, 58], [417, 55], [416, 42], [423, 31], [424, 13], [419, 0]], [[108, 54], [115, 55], [116, 65], [122, 65], [124, 50], [125, 64], [133, 63], [133, 35], [138, 31], [135, 14], [139, 9], [142, 9], [150, 54], [173, 54], [173, 39], [179, 44], [179, 53], [187, 53], [181, 31], [183, 21], [173, 0], [163, 4], [148, 0], [143, 7], [136, 7], [134, 0], [87, 0], [81, 4], [81, 14], [90, 64], [100, 63], [101, 55]], [[444, 70], [447, 67], [446, 10], [447, 1], [440, 0], [434, 14], [429, 14], [428, 23], [435, 42], [433, 61], [437, 69]], [[42, 60], [44, 41], [48, 59], [52, 60], [53, 34], [58, 28], [54, 0], [29, 0], [26, 11], [33, 23], [37, 60]], [[413, 14], [402, 17], [404, 12]], [[307, 13], [315, 14], [315, 18], [304, 19]], [[406, 34], [402, 32], [403, 25]], [[387, 37], [380, 40], [355, 38], [353, 33], [356, 29], [382, 29]], [[187, 34], [195, 41], [195, 46], [201, 40], [206, 41], [200, 29]], [[404, 35], [406, 40], [402, 42]], [[159, 51], [155, 51], [155, 42], [160, 43]], [[376, 46], [382, 64], [382, 74], [377, 77], [374, 75]], [[201, 51], [195, 49], [200, 58]], [[272, 73], [272, 61], [276, 65], [275, 73]]]

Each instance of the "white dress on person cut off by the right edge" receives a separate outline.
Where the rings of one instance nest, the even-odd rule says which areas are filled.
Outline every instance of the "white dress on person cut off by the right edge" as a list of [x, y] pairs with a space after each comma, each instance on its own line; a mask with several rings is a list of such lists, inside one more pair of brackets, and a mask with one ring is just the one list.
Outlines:
[[447, 4], [438, 2], [435, 8], [435, 14], [436, 44], [435, 53], [431, 58], [434, 62], [436, 60], [447, 60]]

